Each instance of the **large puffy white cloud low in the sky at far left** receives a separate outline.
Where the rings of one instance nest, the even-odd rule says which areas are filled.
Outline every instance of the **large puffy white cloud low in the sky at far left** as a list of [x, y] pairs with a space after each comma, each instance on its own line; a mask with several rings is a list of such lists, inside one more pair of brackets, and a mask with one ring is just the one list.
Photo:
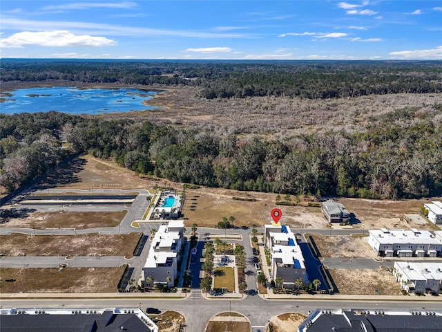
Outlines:
[[93, 37], [90, 35], [74, 35], [67, 30], [40, 31], [32, 33], [23, 31], [8, 38], [0, 39], [0, 46], [17, 48], [24, 45], [38, 46], [110, 46], [115, 45], [113, 39]]

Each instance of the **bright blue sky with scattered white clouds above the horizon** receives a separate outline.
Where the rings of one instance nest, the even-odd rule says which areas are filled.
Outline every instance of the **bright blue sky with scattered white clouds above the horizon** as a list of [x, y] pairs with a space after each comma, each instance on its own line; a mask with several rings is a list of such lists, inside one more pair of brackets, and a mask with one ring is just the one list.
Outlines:
[[442, 59], [442, 0], [2, 0], [0, 30], [3, 58]]

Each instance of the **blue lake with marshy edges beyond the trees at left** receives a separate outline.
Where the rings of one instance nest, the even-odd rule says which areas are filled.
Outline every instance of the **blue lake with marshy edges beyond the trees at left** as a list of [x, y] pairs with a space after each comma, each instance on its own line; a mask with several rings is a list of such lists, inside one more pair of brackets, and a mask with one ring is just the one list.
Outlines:
[[161, 91], [140, 89], [78, 89], [75, 86], [19, 89], [0, 93], [0, 113], [57, 111], [70, 114], [146, 111], [156, 107], [142, 104]]

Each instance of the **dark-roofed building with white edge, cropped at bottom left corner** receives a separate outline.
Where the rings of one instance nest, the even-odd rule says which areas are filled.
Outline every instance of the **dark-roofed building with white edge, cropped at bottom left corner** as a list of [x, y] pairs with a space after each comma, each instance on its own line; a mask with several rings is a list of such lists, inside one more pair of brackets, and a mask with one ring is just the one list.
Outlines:
[[1, 308], [1, 332], [158, 332], [140, 308]]

